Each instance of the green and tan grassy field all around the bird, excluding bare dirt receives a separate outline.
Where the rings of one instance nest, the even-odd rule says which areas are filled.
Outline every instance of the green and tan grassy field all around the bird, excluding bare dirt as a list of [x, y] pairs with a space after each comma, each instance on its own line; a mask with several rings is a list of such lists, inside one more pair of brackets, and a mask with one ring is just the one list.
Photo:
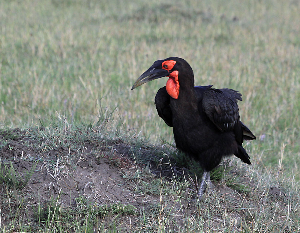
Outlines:
[[[106, 153], [101, 155], [104, 157], [115, 144], [122, 144], [126, 148], [132, 145], [123, 154], [134, 156], [136, 172], [144, 178], [122, 176], [122, 179], [124, 182], [140, 184], [137, 190], [142, 197], [145, 193], [147, 199], [149, 195], [160, 197], [154, 198], [157, 202], [153, 203], [156, 204], [152, 203], [153, 213], [158, 213], [158, 219], [149, 215], [149, 219], [155, 220], [146, 221], [147, 211], [144, 209], [139, 212], [139, 215], [144, 214], [144, 220], [136, 220], [141, 225], [131, 225], [129, 220], [124, 222], [126, 227], [132, 226], [133, 232], [138, 229], [137, 226], [141, 227], [141, 232], [297, 232], [299, 228], [296, 226], [300, 222], [297, 217], [297, 182], [300, 179], [299, 12], [300, 2], [297, 0], [243, 1], [238, 4], [230, 0], [175, 0], [163, 3], [142, 0], [0, 1], [0, 127], [4, 129], [1, 131], [1, 148], [12, 147], [9, 140], [18, 138], [14, 133], [9, 133], [8, 128], [26, 129], [35, 141], [28, 141], [21, 133], [19, 137], [25, 138], [23, 144], [35, 148], [32, 150], [36, 154], [40, 151], [43, 156], [49, 148], [60, 146], [71, 146], [78, 153], [85, 140], [95, 145], [91, 149], [95, 150], [93, 153], [102, 148]], [[245, 198], [244, 189], [240, 190], [234, 185], [233, 190], [240, 190], [238, 193], [243, 199], [237, 201], [223, 194], [221, 197], [208, 196], [207, 202], [192, 204], [196, 206], [193, 214], [182, 217], [173, 213], [171, 207], [177, 208], [178, 203], [182, 203], [185, 192], [192, 195], [186, 191], [192, 190], [190, 180], [182, 177], [178, 182], [155, 179], [161, 181], [161, 189], [157, 189], [164, 190], [163, 194], [158, 190], [147, 191], [142, 188], [143, 185], [148, 187], [146, 184], [151, 180], [149, 177], [152, 175], [145, 170], [147, 164], [149, 168], [153, 161], [148, 157], [139, 157], [136, 154], [139, 147], [162, 147], [153, 152], [153, 157], [157, 159], [153, 162], [155, 166], [160, 164], [160, 157], [163, 156], [161, 151], [170, 153], [171, 158], [179, 155], [176, 155], [172, 146], [163, 145], [174, 143], [172, 129], [158, 117], [154, 107], [156, 91], [165, 85], [166, 79], [147, 83], [134, 91], [131, 91], [131, 86], [154, 61], [170, 56], [182, 57], [190, 63], [196, 85], [232, 88], [243, 94], [243, 102], [239, 103], [241, 120], [257, 137], [256, 141], [245, 146], [253, 166], [245, 167], [233, 160], [233, 165], [230, 162], [233, 168], [228, 171], [224, 162], [220, 166], [220, 173], [224, 177], [218, 179], [217, 183], [229, 187], [226, 184], [233, 181], [233, 184], [237, 184], [235, 179], [241, 176], [242, 183], [254, 190], [254, 194], [248, 192], [250, 197]], [[44, 131], [35, 132], [30, 129], [32, 127], [42, 127]], [[86, 135], [69, 136], [66, 139], [66, 132]], [[90, 135], [94, 135], [93, 139]], [[103, 145], [98, 145], [97, 137], [114, 144], [102, 140]], [[43, 147], [41, 138], [49, 139], [49, 142], [46, 140], [48, 149]], [[174, 160], [177, 162], [170, 159], [165, 163], [174, 162], [177, 168], [182, 168], [184, 163], [178, 162], [180, 159], [182, 157], [179, 156]], [[16, 167], [4, 167], [3, 164], [1, 161], [0, 179], [4, 182], [12, 178], [4, 176], [3, 171], [14, 173]], [[30, 166], [34, 167], [33, 164]], [[70, 163], [70, 166], [74, 165]], [[116, 167], [120, 167], [120, 164]], [[187, 168], [192, 171], [187, 172], [192, 177], [193, 172], [196, 173], [196, 165]], [[123, 175], [131, 174], [126, 170], [127, 167], [122, 169]], [[240, 169], [245, 176], [238, 173]], [[195, 181], [194, 177], [191, 180]], [[20, 202], [16, 198], [20, 195], [16, 182], [13, 182], [14, 188], [6, 186], [0, 202], [2, 210], [12, 208], [8, 198], [10, 195], [14, 196], [14, 203]], [[166, 184], [166, 189], [162, 188], [163, 184]], [[286, 198], [279, 198], [279, 201], [269, 199], [266, 193], [273, 187], [284, 190]], [[173, 203], [166, 204], [168, 207], [164, 212], [164, 208], [164, 211], [160, 208], [169, 197]], [[247, 202], [246, 207], [243, 200]], [[83, 203], [76, 201], [77, 204]], [[95, 214], [93, 208], [86, 207], [86, 203], [84, 206], [88, 213]], [[81, 210], [79, 208], [77, 213]], [[232, 217], [236, 211], [245, 211], [246, 214], [239, 212], [239, 217]], [[52, 221], [46, 221], [43, 225], [39, 218], [38, 226], [42, 232], [51, 232], [50, 226], [57, 220], [55, 214], [51, 215], [50, 212], [48, 216]], [[10, 212], [9, 216], [19, 217], [20, 213]], [[76, 219], [80, 219], [80, 214], [76, 216]], [[179, 216], [182, 225], [174, 224], [177, 219], [174, 216]], [[5, 215], [1, 215], [0, 225], [1, 218], [4, 219]], [[20, 230], [23, 222], [16, 221], [16, 217], [12, 219], [13, 225], [1, 229], [1, 233], [21, 230], [35, 232], [30, 228]], [[122, 224], [113, 226], [111, 223], [115, 224], [116, 219], [111, 217], [107, 220], [108, 226], [102, 224], [99, 232], [117, 232], [116, 229]], [[59, 225], [57, 220], [52, 232], [66, 232], [66, 228], [59, 228], [65, 222], [61, 220]], [[82, 232], [80, 227], [87, 226], [85, 222], [77, 223], [78, 228], [72, 229], [73, 232]], [[45, 227], [45, 224], [50, 225]]]

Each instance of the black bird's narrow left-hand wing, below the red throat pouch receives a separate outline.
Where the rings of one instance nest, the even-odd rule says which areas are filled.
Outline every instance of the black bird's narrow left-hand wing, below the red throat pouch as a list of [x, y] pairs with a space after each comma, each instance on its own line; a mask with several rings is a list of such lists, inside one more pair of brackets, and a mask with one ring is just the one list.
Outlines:
[[168, 126], [173, 127], [170, 95], [167, 93], [166, 87], [162, 87], [158, 90], [155, 95], [154, 104], [158, 115], [163, 118]]

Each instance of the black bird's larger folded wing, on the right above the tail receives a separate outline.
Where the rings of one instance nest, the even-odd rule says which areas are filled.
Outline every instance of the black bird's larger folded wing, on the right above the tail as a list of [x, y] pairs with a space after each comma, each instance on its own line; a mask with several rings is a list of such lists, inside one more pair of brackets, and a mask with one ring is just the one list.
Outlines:
[[232, 89], [207, 89], [203, 92], [202, 107], [219, 130], [231, 131], [239, 123], [238, 100], [241, 93]]

